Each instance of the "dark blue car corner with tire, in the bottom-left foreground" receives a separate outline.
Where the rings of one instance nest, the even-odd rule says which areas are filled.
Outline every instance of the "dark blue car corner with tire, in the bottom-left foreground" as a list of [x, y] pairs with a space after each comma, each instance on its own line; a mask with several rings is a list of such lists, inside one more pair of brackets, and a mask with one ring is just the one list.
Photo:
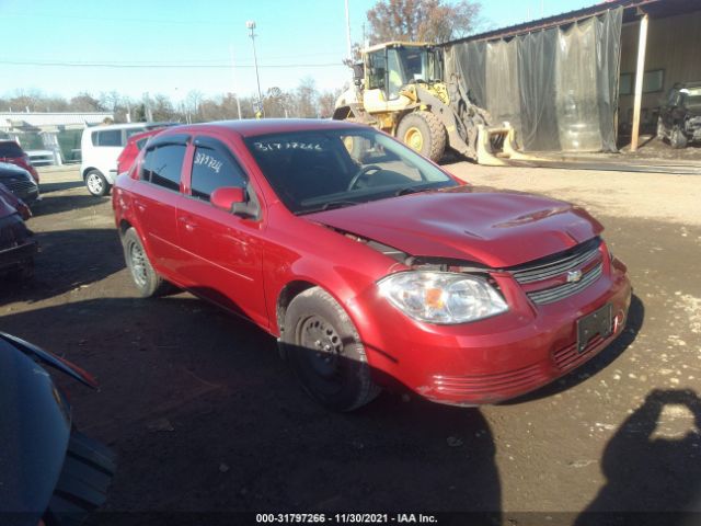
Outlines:
[[43, 366], [96, 388], [68, 361], [0, 332], [2, 524], [81, 524], [104, 503], [115, 471], [112, 451], [72, 425], [68, 399]]

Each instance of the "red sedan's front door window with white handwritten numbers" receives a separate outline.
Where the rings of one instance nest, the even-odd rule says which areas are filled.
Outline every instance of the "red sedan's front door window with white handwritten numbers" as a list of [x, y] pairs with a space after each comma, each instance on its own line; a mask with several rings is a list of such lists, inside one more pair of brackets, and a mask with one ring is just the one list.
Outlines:
[[231, 156], [222, 148], [197, 146], [193, 158], [192, 193], [209, 201], [211, 193], [222, 186], [244, 187], [246, 178]]

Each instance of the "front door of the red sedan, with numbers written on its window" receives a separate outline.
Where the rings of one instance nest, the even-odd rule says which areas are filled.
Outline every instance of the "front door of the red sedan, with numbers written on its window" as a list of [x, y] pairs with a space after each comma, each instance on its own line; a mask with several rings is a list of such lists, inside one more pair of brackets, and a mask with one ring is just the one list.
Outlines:
[[[264, 222], [215, 208], [211, 193], [245, 187], [261, 203], [254, 185], [231, 149], [215, 137], [198, 136], [189, 161], [188, 187], [177, 209], [180, 242], [187, 253], [182, 273], [193, 291], [267, 327], [263, 293]], [[258, 207], [260, 208], [260, 207]]]

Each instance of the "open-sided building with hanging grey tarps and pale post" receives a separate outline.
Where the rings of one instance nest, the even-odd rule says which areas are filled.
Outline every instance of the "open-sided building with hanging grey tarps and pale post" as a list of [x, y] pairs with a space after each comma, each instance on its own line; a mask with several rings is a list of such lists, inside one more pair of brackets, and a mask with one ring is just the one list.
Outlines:
[[701, 0], [611, 0], [446, 44], [457, 76], [527, 151], [616, 151], [701, 81]]

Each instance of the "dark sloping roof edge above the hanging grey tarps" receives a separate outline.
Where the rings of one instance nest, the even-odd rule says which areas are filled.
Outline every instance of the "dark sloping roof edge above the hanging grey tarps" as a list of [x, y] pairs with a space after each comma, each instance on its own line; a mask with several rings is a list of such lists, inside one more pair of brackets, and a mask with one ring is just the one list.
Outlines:
[[576, 22], [589, 16], [596, 16], [610, 9], [623, 8], [623, 22], [637, 19], [639, 12], [650, 13], [653, 18], [671, 16], [691, 11], [701, 10], [701, 0], [606, 0], [588, 8], [576, 9], [565, 13], [548, 16], [540, 20], [531, 20], [498, 30], [490, 30], [476, 35], [466, 36], [444, 45], [459, 44], [462, 42], [494, 41], [497, 38], [510, 38], [516, 35], [547, 30], [559, 25]]

